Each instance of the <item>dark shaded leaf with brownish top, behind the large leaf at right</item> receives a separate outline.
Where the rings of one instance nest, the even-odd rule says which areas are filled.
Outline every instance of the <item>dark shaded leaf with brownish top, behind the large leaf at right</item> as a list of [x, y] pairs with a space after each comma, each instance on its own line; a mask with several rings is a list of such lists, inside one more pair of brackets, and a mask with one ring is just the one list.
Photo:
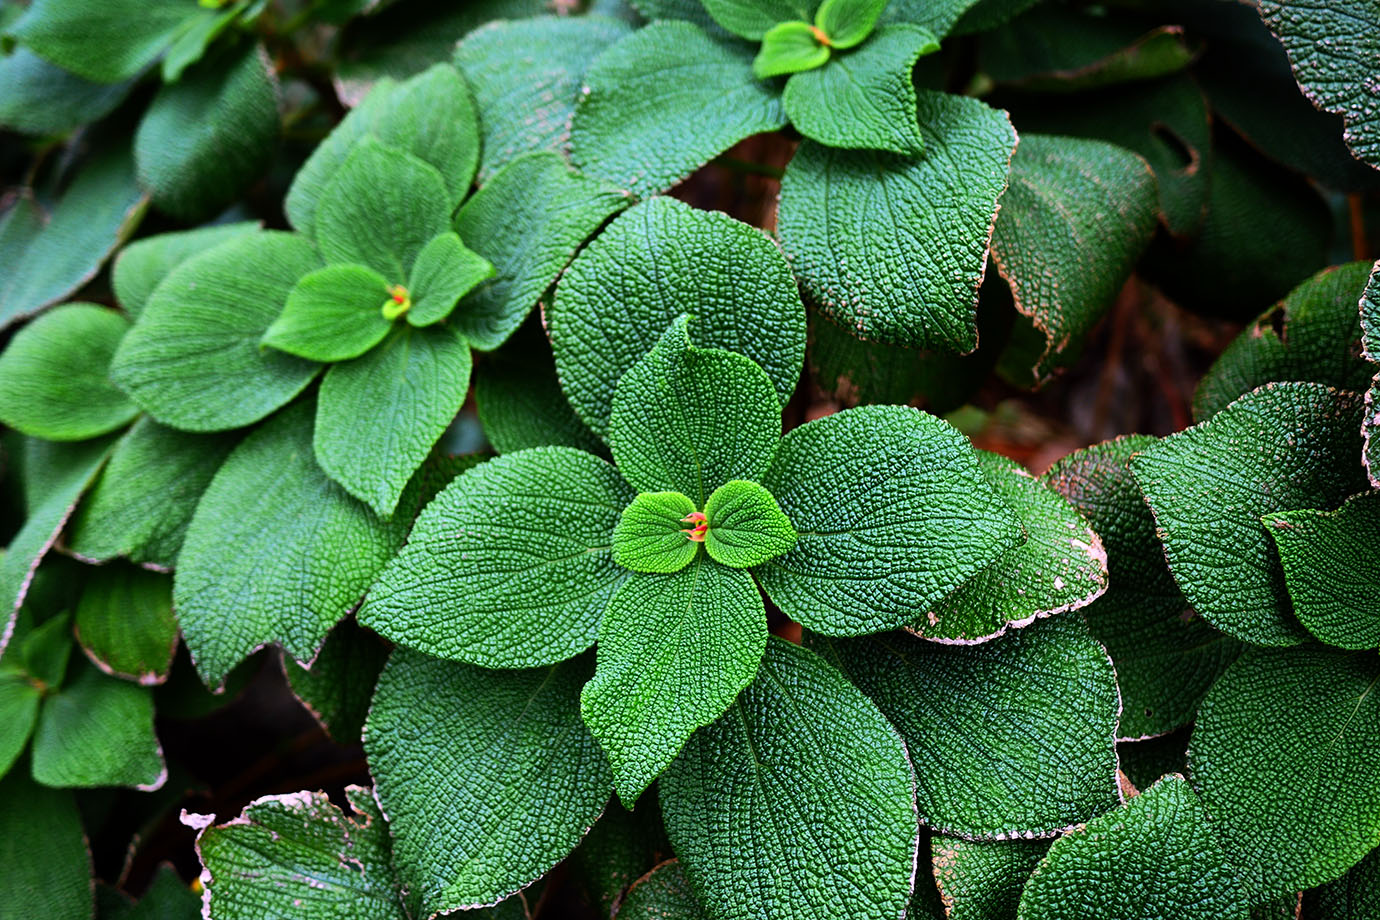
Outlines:
[[1116, 666], [1118, 738], [1161, 735], [1191, 723], [1203, 694], [1242, 648], [1191, 611], [1169, 574], [1155, 519], [1129, 465], [1154, 444], [1144, 434], [1118, 437], [1074, 451], [1043, 476], [1087, 519], [1107, 552], [1110, 588], [1083, 618]]

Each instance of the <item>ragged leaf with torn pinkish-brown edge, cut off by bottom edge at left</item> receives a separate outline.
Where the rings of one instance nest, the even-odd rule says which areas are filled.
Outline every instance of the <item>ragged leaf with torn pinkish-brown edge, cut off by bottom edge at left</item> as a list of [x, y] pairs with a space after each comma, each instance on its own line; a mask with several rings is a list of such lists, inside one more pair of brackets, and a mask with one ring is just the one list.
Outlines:
[[207, 914], [407, 920], [378, 806], [357, 786], [348, 797], [353, 815], [324, 792], [264, 796], [219, 826], [207, 826], [215, 815], [186, 815], [197, 828]]

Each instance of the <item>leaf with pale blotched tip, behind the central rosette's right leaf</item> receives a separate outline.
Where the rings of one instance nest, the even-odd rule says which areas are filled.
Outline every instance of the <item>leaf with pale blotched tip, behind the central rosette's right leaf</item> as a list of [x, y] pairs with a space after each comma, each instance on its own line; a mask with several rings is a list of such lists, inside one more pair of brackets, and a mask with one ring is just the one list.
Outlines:
[[1107, 550], [1078, 509], [1016, 461], [977, 451], [977, 466], [1016, 512], [1025, 542], [1006, 550], [907, 629], [925, 639], [981, 641], [1101, 597]]

